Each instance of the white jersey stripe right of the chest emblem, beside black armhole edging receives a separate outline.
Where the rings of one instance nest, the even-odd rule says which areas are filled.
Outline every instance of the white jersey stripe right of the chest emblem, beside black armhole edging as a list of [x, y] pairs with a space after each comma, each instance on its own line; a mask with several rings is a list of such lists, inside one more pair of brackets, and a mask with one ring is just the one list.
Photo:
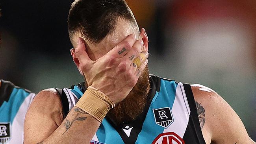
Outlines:
[[164, 129], [163, 133], [173, 132], [175, 130], [177, 135], [183, 137], [187, 129], [190, 109], [187, 102], [187, 96], [181, 82], [177, 85], [176, 96], [171, 111], [173, 114], [173, 123]]

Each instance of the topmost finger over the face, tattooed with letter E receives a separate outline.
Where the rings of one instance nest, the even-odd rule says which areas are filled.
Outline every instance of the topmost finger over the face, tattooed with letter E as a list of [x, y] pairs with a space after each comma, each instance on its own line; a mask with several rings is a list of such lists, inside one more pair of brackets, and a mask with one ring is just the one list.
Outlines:
[[122, 42], [117, 44], [106, 55], [113, 55], [114, 57], [121, 58], [127, 54], [135, 43], [136, 36], [134, 34], [128, 35]]

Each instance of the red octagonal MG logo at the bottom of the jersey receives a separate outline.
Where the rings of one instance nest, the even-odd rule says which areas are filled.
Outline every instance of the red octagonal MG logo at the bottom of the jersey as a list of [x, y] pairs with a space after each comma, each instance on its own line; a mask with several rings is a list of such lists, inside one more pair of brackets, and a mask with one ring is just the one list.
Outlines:
[[185, 144], [184, 140], [176, 133], [161, 133], [152, 144]]

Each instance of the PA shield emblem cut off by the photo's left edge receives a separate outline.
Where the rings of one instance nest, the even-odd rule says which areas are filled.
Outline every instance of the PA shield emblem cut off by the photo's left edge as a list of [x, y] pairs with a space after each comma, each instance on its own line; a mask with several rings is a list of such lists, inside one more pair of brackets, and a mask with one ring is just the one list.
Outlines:
[[10, 123], [0, 123], [0, 144], [6, 144], [11, 139]]

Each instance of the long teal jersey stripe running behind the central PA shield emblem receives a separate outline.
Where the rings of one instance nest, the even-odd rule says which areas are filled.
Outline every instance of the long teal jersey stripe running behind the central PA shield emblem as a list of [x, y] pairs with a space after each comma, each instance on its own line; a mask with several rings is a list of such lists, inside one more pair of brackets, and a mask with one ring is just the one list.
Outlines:
[[163, 107], [170, 107], [170, 109], [172, 109], [176, 87], [177, 84], [175, 81], [161, 79], [160, 92], [156, 92], [151, 102], [141, 133], [139, 133], [135, 144], [141, 144], [142, 142], [143, 144], [151, 144], [160, 133], [163, 133], [164, 127], [156, 124], [153, 109], [160, 109]]

